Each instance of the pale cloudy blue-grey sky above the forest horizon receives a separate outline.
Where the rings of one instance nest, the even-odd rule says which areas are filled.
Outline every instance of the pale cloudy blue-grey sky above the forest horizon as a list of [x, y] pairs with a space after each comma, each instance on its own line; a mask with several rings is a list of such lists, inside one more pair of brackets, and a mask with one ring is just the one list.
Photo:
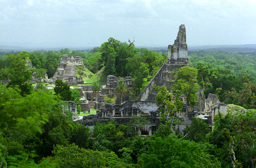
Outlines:
[[256, 0], [0, 0], [0, 46], [135, 47], [256, 44]]

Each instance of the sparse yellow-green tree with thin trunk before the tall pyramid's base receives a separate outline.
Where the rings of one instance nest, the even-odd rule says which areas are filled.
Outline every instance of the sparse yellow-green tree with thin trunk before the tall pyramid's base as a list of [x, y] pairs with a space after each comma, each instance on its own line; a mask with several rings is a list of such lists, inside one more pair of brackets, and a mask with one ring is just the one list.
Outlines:
[[173, 119], [183, 108], [183, 102], [180, 99], [180, 95], [169, 94], [166, 87], [154, 86], [154, 89], [158, 91], [155, 100], [157, 101], [157, 106], [160, 106], [159, 112], [161, 113], [161, 118], [166, 121], [167, 116], [169, 115], [171, 124], [170, 128], [172, 129]]

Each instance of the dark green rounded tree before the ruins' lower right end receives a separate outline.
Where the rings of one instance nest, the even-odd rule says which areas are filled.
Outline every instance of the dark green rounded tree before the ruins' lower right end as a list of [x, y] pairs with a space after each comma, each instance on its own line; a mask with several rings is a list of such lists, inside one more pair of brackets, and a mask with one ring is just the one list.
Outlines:
[[209, 133], [209, 125], [202, 121], [201, 118], [192, 118], [192, 126], [187, 126], [185, 130], [187, 131], [186, 140], [192, 140], [195, 142], [206, 142], [206, 134]]

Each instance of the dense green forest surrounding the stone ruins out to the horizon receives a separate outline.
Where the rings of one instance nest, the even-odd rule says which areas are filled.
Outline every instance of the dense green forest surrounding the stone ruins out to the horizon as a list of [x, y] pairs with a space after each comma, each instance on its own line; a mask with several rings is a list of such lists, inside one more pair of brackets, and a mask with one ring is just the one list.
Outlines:
[[[62, 113], [61, 100], [78, 101], [75, 89], [59, 82], [54, 92], [45, 89], [43, 83], [34, 90], [32, 83], [26, 82], [32, 73], [43, 76], [47, 72], [48, 78], [52, 77], [63, 54], [81, 56], [93, 74], [104, 69], [102, 83], [110, 74], [132, 76], [136, 95], [167, 59], [163, 50], [136, 48], [133, 42], [113, 38], [91, 51], [65, 48], [0, 55], [0, 79], [9, 80], [7, 87], [0, 85], [0, 167], [256, 166], [255, 52], [189, 52], [192, 67], [175, 73], [172, 89], [190, 96], [192, 106], [199, 86], [202, 96], [213, 93], [221, 102], [234, 105], [228, 105], [226, 116], [214, 116], [211, 132], [204, 121], [193, 118], [194, 124], [182, 137], [174, 133], [175, 121], [170, 120], [145, 138], [134, 130], [147, 121], [136, 116], [127, 125], [117, 125], [114, 120], [98, 122], [91, 133], [88, 127], [73, 122], [71, 113]], [[26, 58], [37, 70], [27, 69]], [[155, 89], [159, 90], [159, 106], [170, 102], [170, 97], [165, 97], [166, 88]], [[169, 115], [180, 112], [180, 105], [178, 99], [167, 103]]]

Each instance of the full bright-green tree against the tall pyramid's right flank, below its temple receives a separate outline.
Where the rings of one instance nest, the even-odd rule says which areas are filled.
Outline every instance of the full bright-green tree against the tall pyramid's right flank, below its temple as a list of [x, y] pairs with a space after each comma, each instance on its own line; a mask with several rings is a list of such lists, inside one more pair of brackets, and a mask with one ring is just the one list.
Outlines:
[[198, 85], [196, 84], [197, 70], [193, 67], [184, 66], [181, 67], [176, 73], [174, 73], [175, 84], [171, 89], [180, 91], [180, 94], [187, 96], [187, 103], [191, 106], [197, 103]]

